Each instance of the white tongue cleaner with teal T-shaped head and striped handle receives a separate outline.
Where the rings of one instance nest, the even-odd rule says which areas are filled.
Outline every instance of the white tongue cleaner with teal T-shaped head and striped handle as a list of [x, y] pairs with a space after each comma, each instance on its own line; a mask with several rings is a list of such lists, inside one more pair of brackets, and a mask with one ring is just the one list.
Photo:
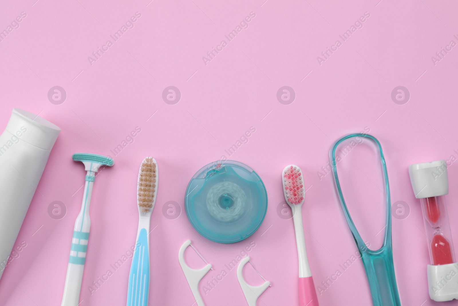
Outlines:
[[74, 161], [81, 161], [84, 164], [87, 174], [81, 211], [78, 217], [76, 217], [73, 239], [71, 241], [70, 259], [68, 261], [61, 306], [77, 306], [80, 303], [81, 282], [84, 262], [86, 261], [89, 229], [91, 228], [89, 204], [91, 203], [95, 172], [98, 172], [101, 166], [113, 166], [114, 164], [112, 158], [91, 153], [75, 153], [71, 157]]

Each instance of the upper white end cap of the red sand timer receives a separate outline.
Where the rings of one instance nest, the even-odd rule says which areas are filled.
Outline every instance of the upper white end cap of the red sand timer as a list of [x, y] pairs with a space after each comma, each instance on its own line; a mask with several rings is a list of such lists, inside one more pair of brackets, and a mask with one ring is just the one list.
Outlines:
[[445, 160], [410, 165], [409, 175], [417, 199], [448, 194], [447, 163]]

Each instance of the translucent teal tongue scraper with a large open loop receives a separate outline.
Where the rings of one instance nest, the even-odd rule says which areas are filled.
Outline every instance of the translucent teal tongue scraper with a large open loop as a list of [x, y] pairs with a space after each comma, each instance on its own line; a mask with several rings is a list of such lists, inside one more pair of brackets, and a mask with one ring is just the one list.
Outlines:
[[[383, 177], [385, 178], [385, 191], [386, 191], [386, 219], [385, 219], [385, 235], [383, 237], [383, 245], [378, 250], [370, 250], [366, 247], [363, 239], [361, 238], [358, 230], [354, 226], [353, 220], [350, 217], [347, 205], [345, 204], [342, 189], [340, 187], [339, 178], [337, 176], [337, 162], [336, 162], [336, 149], [338, 145], [346, 139], [352, 137], [363, 137], [373, 140], [380, 150], [380, 159], [383, 167]], [[351, 234], [353, 234], [354, 241], [358, 246], [361, 258], [363, 261], [364, 269], [371, 289], [372, 304], [374, 306], [400, 306], [398, 287], [396, 285], [396, 278], [394, 275], [393, 266], [393, 248], [391, 245], [391, 199], [390, 199], [390, 185], [388, 183], [387, 165], [385, 157], [383, 156], [382, 145], [380, 142], [369, 134], [348, 134], [338, 139], [330, 153], [331, 165], [333, 167], [334, 181], [337, 188], [337, 193], [344, 210], [345, 218], [347, 219], [348, 226]]]

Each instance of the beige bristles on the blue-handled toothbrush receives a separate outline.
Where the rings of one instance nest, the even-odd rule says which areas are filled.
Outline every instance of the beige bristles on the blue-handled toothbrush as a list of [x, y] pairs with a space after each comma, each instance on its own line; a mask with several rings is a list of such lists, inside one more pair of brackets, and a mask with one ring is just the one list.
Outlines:
[[156, 189], [156, 163], [153, 157], [147, 157], [142, 161], [138, 178], [137, 201], [143, 212], [148, 212], [153, 207]]

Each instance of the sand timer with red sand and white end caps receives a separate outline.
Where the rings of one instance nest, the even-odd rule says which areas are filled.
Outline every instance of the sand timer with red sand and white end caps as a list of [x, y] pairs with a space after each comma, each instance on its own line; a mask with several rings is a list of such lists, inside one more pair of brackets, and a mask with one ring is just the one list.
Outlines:
[[410, 165], [409, 174], [415, 198], [420, 199], [428, 237], [430, 297], [435, 301], [458, 299], [458, 264], [455, 262], [444, 196], [448, 194], [446, 161]]

